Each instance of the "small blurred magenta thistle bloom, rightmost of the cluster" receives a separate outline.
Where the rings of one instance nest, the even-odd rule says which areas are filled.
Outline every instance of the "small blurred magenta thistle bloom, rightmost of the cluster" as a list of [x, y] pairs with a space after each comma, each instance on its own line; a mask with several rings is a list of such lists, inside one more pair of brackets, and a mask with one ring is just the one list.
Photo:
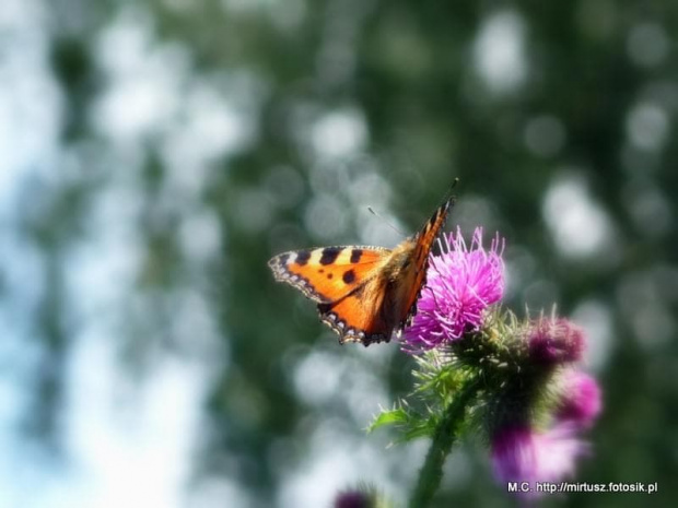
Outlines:
[[588, 428], [601, 410], [600, 387], [595, 378], [580, 370], [565, 373], [558, 418]]

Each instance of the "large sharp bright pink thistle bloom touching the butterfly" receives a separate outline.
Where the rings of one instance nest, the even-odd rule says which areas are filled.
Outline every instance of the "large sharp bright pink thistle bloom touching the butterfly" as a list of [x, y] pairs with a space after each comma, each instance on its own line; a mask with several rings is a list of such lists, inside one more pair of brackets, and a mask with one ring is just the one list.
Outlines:
[[456, 234], [443, 236], [441, 246], [442, 255], [430, 258], [417, 315], [405, 329], [409, 351], [436, 347], [477, 330], [483, 311], [504, 294], [504, 240], [499, 235], [486, 250], [477, 227], [467, 247], [457, 227]]

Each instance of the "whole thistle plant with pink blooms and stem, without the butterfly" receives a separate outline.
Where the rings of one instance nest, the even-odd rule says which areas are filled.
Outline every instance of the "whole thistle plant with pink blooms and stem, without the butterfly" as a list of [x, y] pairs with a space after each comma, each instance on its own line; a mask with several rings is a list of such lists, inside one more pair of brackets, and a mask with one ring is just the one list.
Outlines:
[[[428, 506], [440, 484], [445, 457], [470, 427], [490, 442], [500, 482], [537, 483], [572, 476], [589, 450], [581, 433], [600, 413], [596, 380], [574, 366], [586, 341], [582, 329], [563, 318], [521, 321], [513, 312], [489, 309], [504, 292], [498, 235], [482, 246], [476, 228], [468, 246], [459, 229], [441, 239], [404, 350], [417, 356], [417, 405], [404, 401], [384, 411], [371, 429], [402, 428], [404, 440], [432, 438], [410, 506]], [[545, 427], [545, 424], [547, 425]]]

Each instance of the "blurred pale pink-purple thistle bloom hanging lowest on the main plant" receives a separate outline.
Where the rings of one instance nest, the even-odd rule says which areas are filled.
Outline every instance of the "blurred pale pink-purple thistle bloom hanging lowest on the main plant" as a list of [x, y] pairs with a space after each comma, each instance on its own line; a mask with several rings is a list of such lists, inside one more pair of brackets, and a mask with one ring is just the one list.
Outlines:
[[500, 430], [492, 439], [492, 465], [499, 482], [527, 482], [537, 497], [536, 482], [560, 482], [574, 474], [574, 463], [588, 451], [576, 435], [576, 427], [560, 422], [539, 433], [529, 427]]

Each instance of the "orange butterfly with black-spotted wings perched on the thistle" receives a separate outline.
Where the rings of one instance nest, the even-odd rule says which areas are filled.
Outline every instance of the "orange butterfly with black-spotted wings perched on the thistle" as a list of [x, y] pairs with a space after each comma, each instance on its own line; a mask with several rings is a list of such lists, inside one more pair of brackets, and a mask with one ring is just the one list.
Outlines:
[[429, 252], [455, 198], [449, 197], [414, 236], [395, 249], [320, 247], [292, 250], [268, 262], [277, 281], [318, 303], [320, 319], [339, 342], [388, 342], [414, 315]]

